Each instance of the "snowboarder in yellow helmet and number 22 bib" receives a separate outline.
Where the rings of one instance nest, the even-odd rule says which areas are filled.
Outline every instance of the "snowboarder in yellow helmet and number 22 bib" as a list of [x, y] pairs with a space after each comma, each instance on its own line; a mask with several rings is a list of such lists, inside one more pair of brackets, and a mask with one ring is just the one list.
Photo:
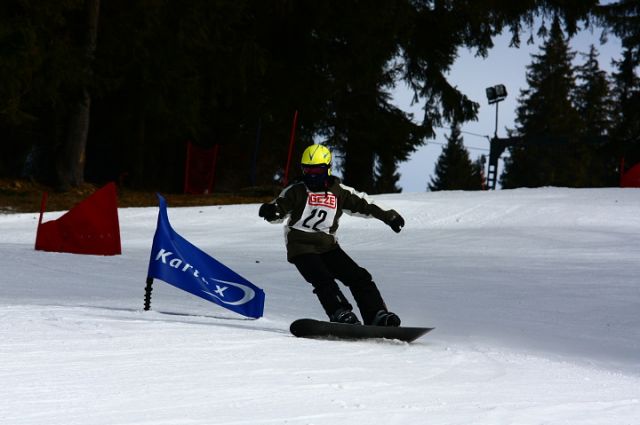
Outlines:
[[311, 283], [331, 322], [360, 324], [335, 281], [338, 279], [350, 289], [365, 325], [400, 326], [400, 318], [387, 310], [371, 274], [342, 250], [335, 233], [343, 212], [377, 218], [396, 233], [404, 226], [404, 219], [332, 176], [331, 151], [325, 146], [307, 147], [301, 165], [302, 180], [262, 204], [259, 216], [271, 223], [289, 217], [285, 226], [287, 260]]

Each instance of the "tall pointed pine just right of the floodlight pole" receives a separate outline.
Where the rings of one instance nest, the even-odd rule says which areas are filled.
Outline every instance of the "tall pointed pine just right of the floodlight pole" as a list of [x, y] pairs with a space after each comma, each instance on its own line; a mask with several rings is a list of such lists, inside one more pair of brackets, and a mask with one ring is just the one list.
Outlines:
[[573, 102], [575, 53], [557, 18], [541, 53], [532, 56], [527, 67], [529, 87], [521, 90], [517, 109], [517, 132], [523, 143], [510, 148], [502, 186], [584, 186], [588, 163], [579, 143], [582, 120]]

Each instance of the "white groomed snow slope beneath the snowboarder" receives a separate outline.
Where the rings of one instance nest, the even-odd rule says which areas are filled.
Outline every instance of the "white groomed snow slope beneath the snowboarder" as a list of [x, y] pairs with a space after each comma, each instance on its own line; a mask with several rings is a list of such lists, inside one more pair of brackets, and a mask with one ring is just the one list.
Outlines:
[[[322, 318], [257, 205], [172, 208], [176, 231], [266, 292], [265, 316], [154, 283], [157, 208], [121, 209], [123, 255], [33, 250], [0, 215], [0, 424], [640, 423], [640, 190], [375, 197], [343, 248], [413, 344], [289, 335]], [[61, 213], [50, 213], [45, 220]]]

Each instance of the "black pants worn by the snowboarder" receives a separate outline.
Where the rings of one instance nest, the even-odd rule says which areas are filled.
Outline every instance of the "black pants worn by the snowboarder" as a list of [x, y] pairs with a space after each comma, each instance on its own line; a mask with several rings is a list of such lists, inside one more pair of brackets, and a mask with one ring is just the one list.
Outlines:
[[329, 317], [339, 309], [353, 308], [335, 279], [351, 290], [365, 324], [371, 323], [376, 312], [386, 310], [371, 274], [358, 266], [340, 247], [324, 254], [299, 255], [293, 258], [293, 264], [302, 277], [313, 285], [313, 292]]

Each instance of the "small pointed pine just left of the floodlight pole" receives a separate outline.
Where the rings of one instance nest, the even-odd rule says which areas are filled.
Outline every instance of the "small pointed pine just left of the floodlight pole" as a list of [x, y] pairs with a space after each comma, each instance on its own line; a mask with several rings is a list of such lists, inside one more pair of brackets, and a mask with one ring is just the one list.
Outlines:
[[451, 126], [447, 144], [436, 163], [435, 176], [428, 184], [430, 191], [438, 190], [479, 190], [482, 178], [477, 165], [471, 163], [469, 151], [464, 147], [458, 124]]

